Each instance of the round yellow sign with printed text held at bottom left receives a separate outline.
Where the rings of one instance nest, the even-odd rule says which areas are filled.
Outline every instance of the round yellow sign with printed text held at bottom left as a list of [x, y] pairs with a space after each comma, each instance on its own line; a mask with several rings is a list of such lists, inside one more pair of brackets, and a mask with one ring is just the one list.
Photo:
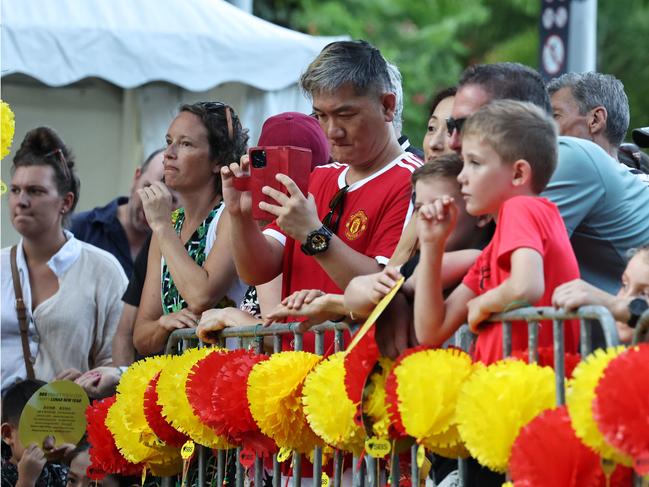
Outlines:
[[36, 443], [52, 437], [55, 445], [76, 445], [86, 432], [86, 408], [88, 396], [85, 391], [69, 380], [57, 380], [45, 384], [29, 399], [18, 424], [23, 445]]

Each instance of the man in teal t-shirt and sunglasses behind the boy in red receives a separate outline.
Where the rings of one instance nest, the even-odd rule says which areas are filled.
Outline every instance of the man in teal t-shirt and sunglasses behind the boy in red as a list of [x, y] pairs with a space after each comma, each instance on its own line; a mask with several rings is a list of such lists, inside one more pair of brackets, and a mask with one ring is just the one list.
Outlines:
[[[461, 152], [464, 120], [497, 99], [532, 102], [552, 113], [536, 71], [516, 63], [472, 66], [462, 74], [447, 121], [450, 147]], [[649, 241], [649, 188], [596, 144], [559, 137], [557, 168], [541, 196], [559, 207], [581, 277], [615, 294], [627, 251]]]

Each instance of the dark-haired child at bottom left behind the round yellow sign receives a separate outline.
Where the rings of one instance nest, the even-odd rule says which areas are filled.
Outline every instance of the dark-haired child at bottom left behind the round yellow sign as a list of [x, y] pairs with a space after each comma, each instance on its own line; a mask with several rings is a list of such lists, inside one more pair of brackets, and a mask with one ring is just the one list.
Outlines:
[[[48, 449], [31, 443], [23, 446], [18, 434], [18, 423], [29, 398], [45, 382], [25, 380], [7, 389], [2, 399], [2, 487], [64, 487], [67, 467], [48, 462], [61, 457], [71, 445]], [[5, 448], [5, 445], [8, 448]]]

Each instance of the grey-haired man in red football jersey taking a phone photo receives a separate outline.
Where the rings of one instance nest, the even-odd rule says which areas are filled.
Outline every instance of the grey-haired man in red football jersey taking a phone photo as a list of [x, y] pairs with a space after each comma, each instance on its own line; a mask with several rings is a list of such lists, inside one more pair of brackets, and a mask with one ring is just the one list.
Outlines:
[[422, 161], [397, 142], [395, 94], [375, 47], [329, 44], [300, 81], [337, 162], [315, 168], [308, 197], [285, 175], [277, 179], [288, 195], [264, 188], [276, 204], [260, 208], [277, 219], [263, 233], [251, 218], [250, 196], [233, 187], [247, 161], [224, 168], [232, 251], [250, 284], [283, 273], [283, 297], [303, 289], [340, 294], [353, 277], [380, 271], [392, 255], [412, 213], [410, 176]]

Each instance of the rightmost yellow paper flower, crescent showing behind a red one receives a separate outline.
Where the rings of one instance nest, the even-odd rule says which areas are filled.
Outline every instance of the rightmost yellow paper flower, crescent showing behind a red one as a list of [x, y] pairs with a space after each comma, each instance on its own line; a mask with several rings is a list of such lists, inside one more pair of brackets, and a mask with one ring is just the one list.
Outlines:
[[595, 350], [575, 368], [573, 380], [566, 391], [566, 404], [570, 421], [575, 433], [585, 445], [595, 450], [602, 457], [631, 466], [633, 460], [611, 446], [597, 428], [593, 417], [593, 400], [595, 387], [604, 374], [604, 369], [611, 360], [626, 350], [625, 347]]

